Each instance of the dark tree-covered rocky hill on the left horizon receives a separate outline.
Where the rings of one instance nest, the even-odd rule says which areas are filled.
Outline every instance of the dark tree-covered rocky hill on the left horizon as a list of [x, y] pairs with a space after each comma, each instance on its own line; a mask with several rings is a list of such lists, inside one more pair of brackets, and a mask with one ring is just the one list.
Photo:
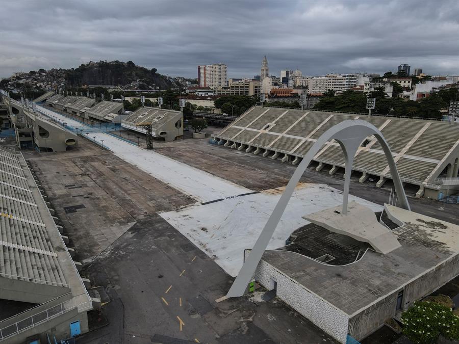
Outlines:
[[157, 73], [156, 68], [147, 69], [136, 66], [134, 62], [99, 61], [82, 64], [75, 69], [60, 69], [67, 86], [76, 87], [83, 85], [129, 85], [139, 81], [146, 86], [167, 89], [172, 83], [164, 75]]

